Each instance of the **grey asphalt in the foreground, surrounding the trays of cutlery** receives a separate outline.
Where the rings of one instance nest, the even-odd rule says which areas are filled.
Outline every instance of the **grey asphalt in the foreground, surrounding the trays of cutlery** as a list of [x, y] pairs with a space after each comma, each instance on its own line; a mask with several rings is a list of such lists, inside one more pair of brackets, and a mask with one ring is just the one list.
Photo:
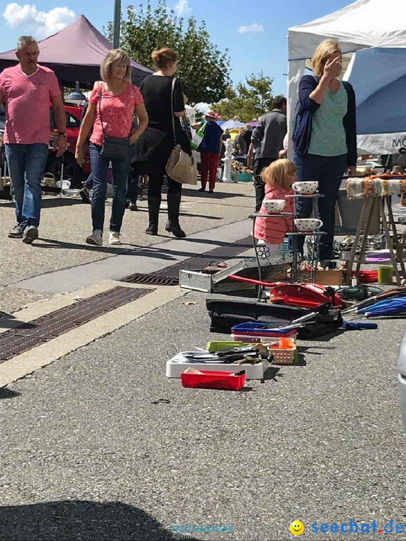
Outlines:
[[293, 520], [298, 539], [343, 539], [311, 524], [351, 519], [375, 539], [373, 520], [406, 525], [405, 321], [301, 341], [304, 366], [238, 393], [185, 389], [165, 362], [217, 337], [206, 298], [192, 292], [0, 390], [0, 539], [284, 540]]

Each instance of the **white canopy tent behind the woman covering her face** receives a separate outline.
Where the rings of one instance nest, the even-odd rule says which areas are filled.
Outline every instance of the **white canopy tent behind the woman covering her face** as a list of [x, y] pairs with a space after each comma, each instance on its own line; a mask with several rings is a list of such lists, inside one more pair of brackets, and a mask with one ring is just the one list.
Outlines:
[[[330, 15], [288, 30], [287, 106], [290, 133], [298, 85], [304, 75], [306, 61], [313, 56], [317, 45], [329, 38], [339, 42], [348, 60], [353, 52], [360, 49], [406, 48], [406, 0], [357, 0]], [[369, 73], [365, 77], [374, 80], [377, 75]], [[402, 139], [405, 135], [406, 129]], [[289, 143], [291, 147], [291, 137]], [[358, 146], [362, 147], [362, 144], [358, 142]]]

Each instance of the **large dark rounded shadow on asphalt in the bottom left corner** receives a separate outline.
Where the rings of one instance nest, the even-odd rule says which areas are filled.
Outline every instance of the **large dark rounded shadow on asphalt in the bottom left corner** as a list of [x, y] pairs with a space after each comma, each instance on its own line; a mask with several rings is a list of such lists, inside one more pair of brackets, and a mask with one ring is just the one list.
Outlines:
[[[161, 541], [172, 532], [146, 512], [121, 502], [62, 500], [0, 507], [0, 539], [7, 541]], [[171, 527], [168, 525], [168, 527]], [[197, 541], [187, 536], [190, 541]]]

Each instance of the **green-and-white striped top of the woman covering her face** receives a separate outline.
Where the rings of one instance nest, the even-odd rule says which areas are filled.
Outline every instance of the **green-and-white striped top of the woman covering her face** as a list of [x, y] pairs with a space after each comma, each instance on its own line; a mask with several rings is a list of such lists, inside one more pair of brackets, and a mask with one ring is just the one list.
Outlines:
[[347, 113], [348, 95], [342, 81], [334, 94], [329, 88], [312, 117], [308, 154], [340, 156], [347, 153], [343, 118]]

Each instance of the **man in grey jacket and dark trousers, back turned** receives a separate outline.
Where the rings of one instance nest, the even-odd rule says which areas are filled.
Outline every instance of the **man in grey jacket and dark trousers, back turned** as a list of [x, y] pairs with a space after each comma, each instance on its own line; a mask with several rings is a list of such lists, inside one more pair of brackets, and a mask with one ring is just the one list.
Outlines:
[[270, 113], [261, 116], [251, 137], [252, 146], [256, 150], [254, 159], [256, 212], [259, 212], [265, 198], [265, 184], [261, 180], [261, 171], [278, 159], [287, 131], [285, 96], [276, 96], [272, 107]]

